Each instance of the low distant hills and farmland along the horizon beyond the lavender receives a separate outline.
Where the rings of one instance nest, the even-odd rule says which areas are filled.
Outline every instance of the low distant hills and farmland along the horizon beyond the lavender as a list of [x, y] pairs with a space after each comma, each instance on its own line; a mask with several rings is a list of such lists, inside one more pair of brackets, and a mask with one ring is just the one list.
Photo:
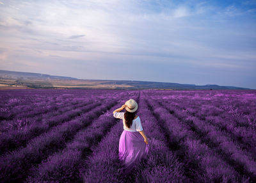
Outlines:
[[195, 85], [152, 81], [119, 81], [101, 79], [77, 79], [31, 72], [0, 70], [0, 88], [83, 88], [83, 89], [162, 89], [162, 90], [251, 90], [217, 84]]

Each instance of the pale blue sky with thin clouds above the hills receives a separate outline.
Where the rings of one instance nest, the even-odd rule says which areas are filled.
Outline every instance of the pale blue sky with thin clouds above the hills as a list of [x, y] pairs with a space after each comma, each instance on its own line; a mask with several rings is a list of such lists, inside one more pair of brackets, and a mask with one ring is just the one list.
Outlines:
[[0, 0], [0, 70], [256, 89], [256, 1]]

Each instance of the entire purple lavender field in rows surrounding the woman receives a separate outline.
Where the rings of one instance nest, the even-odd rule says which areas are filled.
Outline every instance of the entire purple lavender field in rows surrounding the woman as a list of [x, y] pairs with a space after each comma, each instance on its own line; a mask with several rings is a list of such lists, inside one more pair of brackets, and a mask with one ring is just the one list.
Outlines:
[[[120, 174], [138, 102], [149, 153]], [[256, 182], [255, 90], [0, 91], [0, 182]]]

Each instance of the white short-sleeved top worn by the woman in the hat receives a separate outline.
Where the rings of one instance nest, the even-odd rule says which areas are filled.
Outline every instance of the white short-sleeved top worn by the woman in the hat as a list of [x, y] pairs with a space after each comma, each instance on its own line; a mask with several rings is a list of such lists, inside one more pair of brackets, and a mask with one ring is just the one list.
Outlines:
[[130, 131], [130, 132], [138, 132], [138, 131], [143, 131], [141, 122], [140, 122], [140, 116], [138, 116], [136, 119], [132, 120], [132, 125], [130, 128], [128, 128], [125, 125], [125, 118], [124, 118], [124, 112], [122, 113], [118, 113], [115, 112], [113, 115], [115, 118], [119, 118], [123, 120], [123, 124], [124, 124], [124, 130], [125, 131]]

